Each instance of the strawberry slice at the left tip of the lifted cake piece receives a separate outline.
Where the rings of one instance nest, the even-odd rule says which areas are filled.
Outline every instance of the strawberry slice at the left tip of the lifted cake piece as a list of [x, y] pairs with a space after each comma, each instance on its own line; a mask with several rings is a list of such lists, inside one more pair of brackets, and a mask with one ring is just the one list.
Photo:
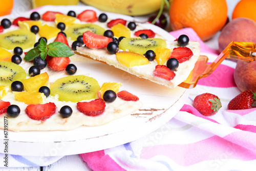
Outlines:
[[83, 42], [88, 48], [105, 48], [106, 46], [108, 46], [109, 42], [113, 41], [112, 38], [101, 36], [92, 33], [91, 31], [84, 32], [82, 36]]

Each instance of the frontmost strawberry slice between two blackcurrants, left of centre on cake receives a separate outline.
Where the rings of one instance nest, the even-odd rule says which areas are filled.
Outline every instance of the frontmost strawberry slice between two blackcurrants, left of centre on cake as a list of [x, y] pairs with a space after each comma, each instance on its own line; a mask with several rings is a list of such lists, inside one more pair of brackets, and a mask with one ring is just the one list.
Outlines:
[[25, 112], [31, 119], [45, 121], [55, 114], [56, 109], [56, 105], [49, 102], [45, 104], [30, 104], [25, 109]]

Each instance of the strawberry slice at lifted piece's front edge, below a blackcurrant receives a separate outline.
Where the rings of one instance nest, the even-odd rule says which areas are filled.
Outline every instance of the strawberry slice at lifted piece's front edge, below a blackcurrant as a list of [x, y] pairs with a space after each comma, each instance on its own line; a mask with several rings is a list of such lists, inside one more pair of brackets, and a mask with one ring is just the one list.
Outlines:
[[175, 75], [176, 74], [172, 70], [164, 65], [157, 65], [154, 71], [154, 76], [166, 79], [168, 81], [174, 79]]

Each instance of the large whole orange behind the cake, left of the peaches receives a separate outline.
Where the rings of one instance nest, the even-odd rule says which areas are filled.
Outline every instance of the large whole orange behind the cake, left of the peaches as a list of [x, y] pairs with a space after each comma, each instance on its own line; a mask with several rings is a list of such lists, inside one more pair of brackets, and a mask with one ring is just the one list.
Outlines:
[[173, 0], [169, 8], [170, 27], [190, 27], [203, 40], [214, 36], [227, 21], [225, 0]]

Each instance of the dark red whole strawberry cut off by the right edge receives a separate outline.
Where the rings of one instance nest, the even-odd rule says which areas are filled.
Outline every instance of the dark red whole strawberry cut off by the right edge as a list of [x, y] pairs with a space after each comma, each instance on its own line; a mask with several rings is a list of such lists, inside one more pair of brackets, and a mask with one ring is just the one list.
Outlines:
[[250, 109], [256, 107], [256, 93], [246, 90], [234, 97], [227, 105], [228, 110]]

